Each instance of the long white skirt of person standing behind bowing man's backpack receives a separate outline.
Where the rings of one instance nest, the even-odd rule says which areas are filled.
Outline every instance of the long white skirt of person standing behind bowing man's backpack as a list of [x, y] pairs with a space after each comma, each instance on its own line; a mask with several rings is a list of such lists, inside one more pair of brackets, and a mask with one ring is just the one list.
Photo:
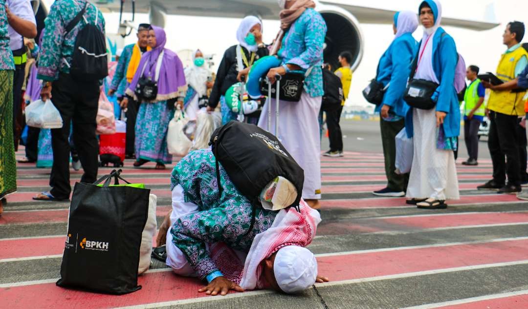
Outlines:
[[[303, 92], [299, 102], [279, 101], [279, 132], [286, 150], [304, 170], [304, 199], [321, 198], [321, 144], [319, 110], [322, 97]], [[258, 126], [275, 133], [276, 103], [271, 99], [271, 130], [268, 130], [270, 100], [262, 108]]]

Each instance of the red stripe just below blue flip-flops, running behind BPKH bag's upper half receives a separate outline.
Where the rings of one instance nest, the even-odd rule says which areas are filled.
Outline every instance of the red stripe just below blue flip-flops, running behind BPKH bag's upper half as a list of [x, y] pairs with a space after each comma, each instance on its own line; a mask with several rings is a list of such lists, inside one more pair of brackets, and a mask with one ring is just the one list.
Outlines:
[[[170, 206], [156, 208], [156, 216], [163, 217]], [[6, 211], [0, 217], [0, 226], [9, 224], [35, 224], [68, 221], [68, 209], [60, 210], [37, 210], [37, 211]]]

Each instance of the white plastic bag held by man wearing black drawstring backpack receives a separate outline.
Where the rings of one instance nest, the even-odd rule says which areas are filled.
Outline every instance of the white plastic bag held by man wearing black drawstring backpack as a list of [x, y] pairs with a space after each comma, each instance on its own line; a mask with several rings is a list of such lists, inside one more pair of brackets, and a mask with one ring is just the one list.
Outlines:
[[37, 100], [31, 102], [26, 109], [26, 124], [29, 127], [41, 129], [60, 129], [62, 128], [62, 117], [58, 109], [55, 108], [53, 102], [43, 102]]

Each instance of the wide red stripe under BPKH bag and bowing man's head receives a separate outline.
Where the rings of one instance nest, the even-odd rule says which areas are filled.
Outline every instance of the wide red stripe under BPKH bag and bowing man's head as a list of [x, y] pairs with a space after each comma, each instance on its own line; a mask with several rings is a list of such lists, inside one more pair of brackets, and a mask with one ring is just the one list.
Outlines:
[[[319, 257], [317, 260], [320, 274], [328, 276], [332, 281], [344, 281], [468, 265], [514, 262], [528, 257], [527, 247], [528, 240], [512, 240], [328, 256]], [[386, 261], [390, 263], [381, 263]], [[53, 283], [2, 288], [2, 304], [7, 308], [30, 308], [39, 304], [41, 308], [91, 309], [205, 296], [197, 293], [197, 289], [203, 286], [197, 279], [178, 277], [171, 272], [149, 273], [139, 277], [138, 283], [143, 285], [140, 291], [122, 296], [72, 291], [56, 287]], [[218, 300], [221, 299], [219, 296]]]

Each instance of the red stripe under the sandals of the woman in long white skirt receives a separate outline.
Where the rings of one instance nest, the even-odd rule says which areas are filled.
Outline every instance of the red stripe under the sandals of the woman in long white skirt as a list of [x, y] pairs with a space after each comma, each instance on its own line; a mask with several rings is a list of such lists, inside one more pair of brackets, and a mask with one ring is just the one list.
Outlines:
[[[390, 208], [407, 205], [405, 198], [362, 198], [353, 200], [322, 200], [323, 208], [344, 208], [344, 209], [360, 209], [360, 208]], [[461, 196], [459, 200], [448, 200], [448, 205], [464, 205], [464, 204], [478, 204], [478, 203], [492, 203], [492, 202], [523, 202], [517, 199], [514, 195], [472, 195]]]

